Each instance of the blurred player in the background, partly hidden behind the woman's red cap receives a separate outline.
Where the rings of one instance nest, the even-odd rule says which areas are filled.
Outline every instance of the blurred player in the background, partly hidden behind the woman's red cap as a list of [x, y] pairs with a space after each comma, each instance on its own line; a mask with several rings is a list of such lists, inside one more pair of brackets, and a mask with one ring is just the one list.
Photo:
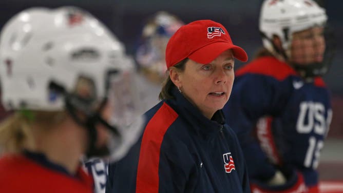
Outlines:
[[175, 15], [165, 11], [157, 12], [149, 18], [142, 29], [142, 35], [136, 51], [141, 86], [143, 113], [155, 106], [161, 84], [166, 77], [165, 47], [169, 38], [183, 25]]

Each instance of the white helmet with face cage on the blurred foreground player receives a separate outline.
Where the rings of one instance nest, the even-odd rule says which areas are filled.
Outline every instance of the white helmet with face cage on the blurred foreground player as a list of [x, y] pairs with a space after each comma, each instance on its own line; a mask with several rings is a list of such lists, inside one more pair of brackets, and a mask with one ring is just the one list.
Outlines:
[[[27, 9], [4, 26], [0, 42], [2, 102], [8, 110], [66, 109], [89, 133], [89, 157], [115, 161], [135, 142], [142, 118], [134, 63], [92, 15], [74, 7]], [[102, 147], [96, 146], [96, 125], [106, 128]]]

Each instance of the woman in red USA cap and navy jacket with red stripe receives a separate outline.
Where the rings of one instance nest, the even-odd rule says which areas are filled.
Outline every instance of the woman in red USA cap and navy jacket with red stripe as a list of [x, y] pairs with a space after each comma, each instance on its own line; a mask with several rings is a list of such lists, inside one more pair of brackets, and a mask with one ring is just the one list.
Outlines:
[[110, 164], [106, 192], [250, 192], [241, 149], [221, 108], [247, 60], [219, 23], [182, 26], [166, 47], [162, 101], [145, 113], [142, 138]]

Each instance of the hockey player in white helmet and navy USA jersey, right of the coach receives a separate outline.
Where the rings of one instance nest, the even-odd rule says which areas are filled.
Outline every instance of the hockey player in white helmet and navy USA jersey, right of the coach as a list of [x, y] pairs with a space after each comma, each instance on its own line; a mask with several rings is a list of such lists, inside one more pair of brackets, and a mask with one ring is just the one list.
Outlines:
[[264, 48], [236, 72], [224, 107], [247, 162], [253, 192], [318, 192], [320, 150], [332, 118], [320, 76], [333, 44], [327, 15], [312, 0], [266, 0]]

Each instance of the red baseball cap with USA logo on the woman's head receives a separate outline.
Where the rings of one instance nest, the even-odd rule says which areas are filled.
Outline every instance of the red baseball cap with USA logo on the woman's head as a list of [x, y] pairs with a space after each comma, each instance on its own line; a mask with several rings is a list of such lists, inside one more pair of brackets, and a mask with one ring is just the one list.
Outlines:
[[165, 62], [169, 68], [188, 57], [197, 63], [208, 64], [228, 49], [233, 50], [236, 59], [247, 61], [246, 52], [232, 43], [223, 25], [211, 20], [199, 20], [181, 26], [170, 37]]

